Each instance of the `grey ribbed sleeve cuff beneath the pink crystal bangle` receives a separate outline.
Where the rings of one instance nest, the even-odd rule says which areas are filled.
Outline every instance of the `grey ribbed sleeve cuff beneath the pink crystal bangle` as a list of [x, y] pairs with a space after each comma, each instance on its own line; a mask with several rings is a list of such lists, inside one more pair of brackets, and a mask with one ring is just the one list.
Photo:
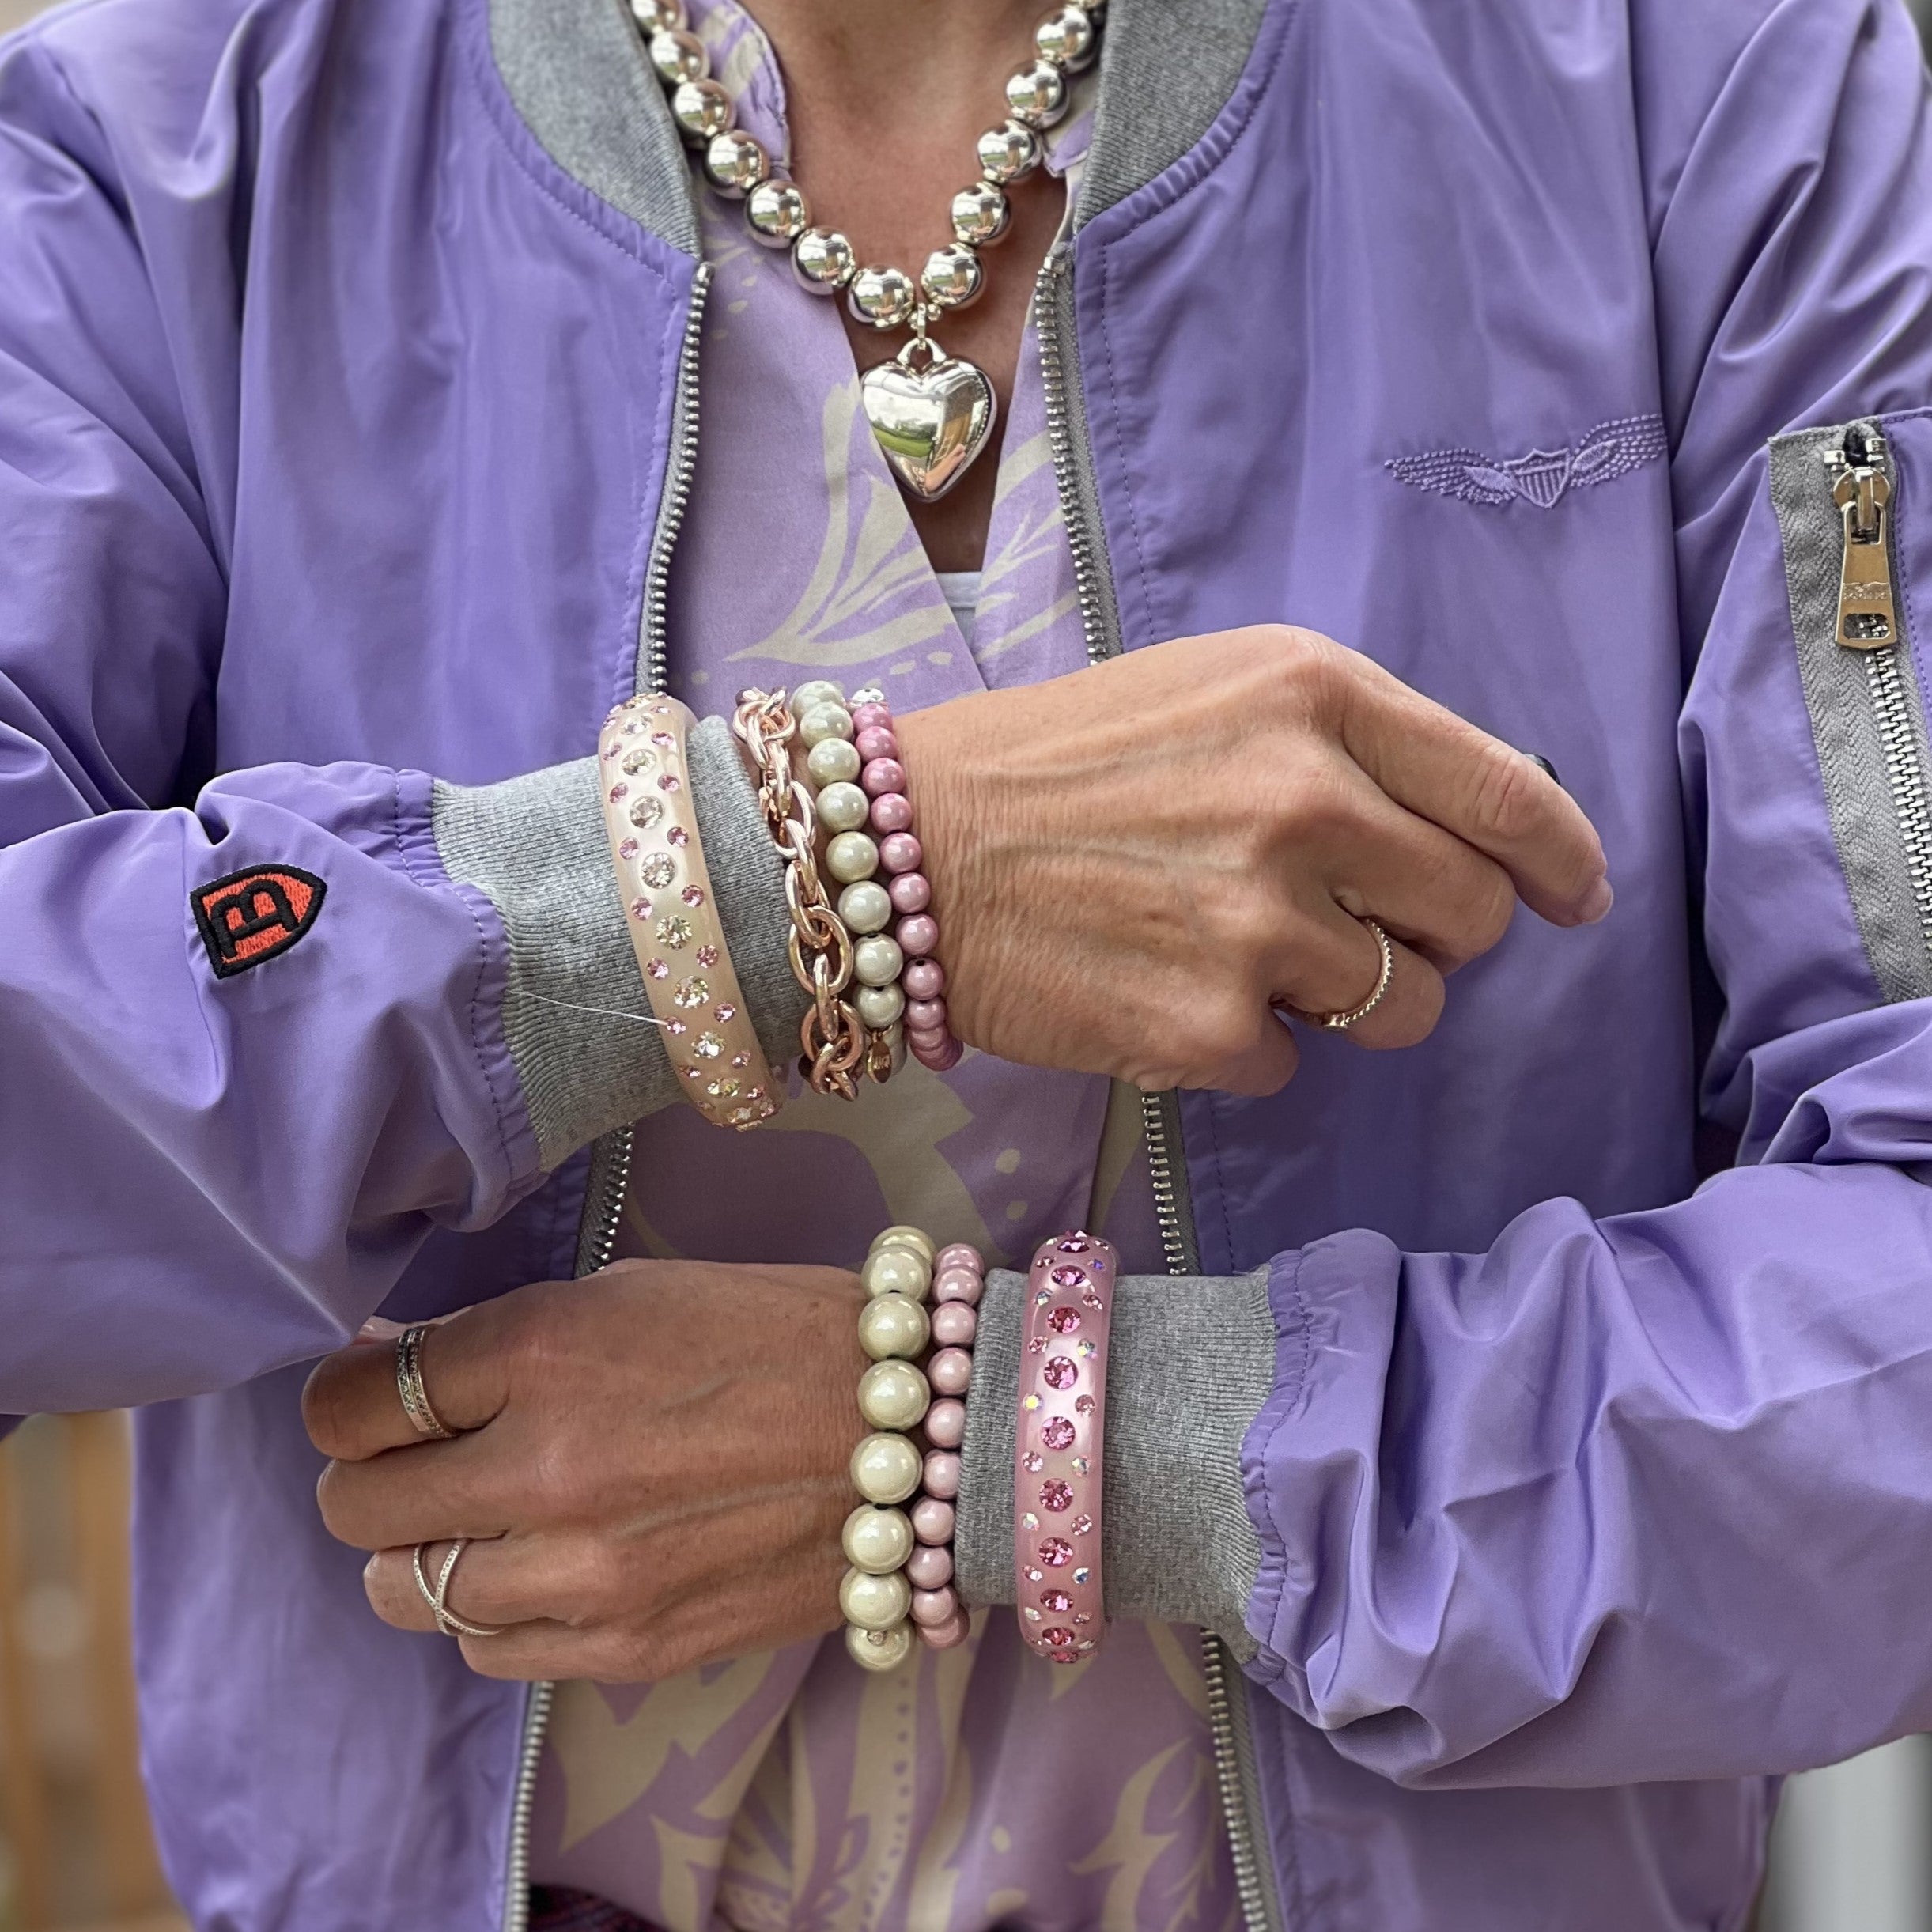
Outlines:
[[[1012, 1453], [1026, 1277], [995, 1269], [980, 1302], [954, 1530], [968, 1604], [1010, 1604]], [[1107, 1615], [1198, 1623], [1246, 1662], [1262, 1546], [1240, 1445], [1275, 1381], [1267, 1269], [1124, 1275], [1115, 1287], [1101, 1472]]]

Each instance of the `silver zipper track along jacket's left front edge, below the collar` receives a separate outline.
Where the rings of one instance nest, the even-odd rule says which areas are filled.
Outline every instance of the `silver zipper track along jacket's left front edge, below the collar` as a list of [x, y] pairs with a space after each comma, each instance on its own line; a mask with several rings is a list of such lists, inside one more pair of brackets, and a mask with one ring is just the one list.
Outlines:
[[[692, 307], [684, 319], [678, 348], [678, 390], [670, 413], [670, 471], [651, 531], [651, 562], [643, 574], [643, 612], [638, 657], [643, 690], [661, 692], [667, 665], [667, 585], [670, 551], [684, 527], [692, 502], [692, 469], [697, 462], [697, 346], [705, 323], [705, 296], [711, 292], [711, 265], [699, 263], [692, 278]], [[578, 1231], [578, 1275], [607, 1267], [624, 1219], [624, 1192], [630, 1184], [632, 1130], [620, 1126], [591, 1150], [591, 1171], [583, 1184], [583, 1219]], [[510, 1857], [504, 1872], [502, 1932], [529, 1932], [529, 1814], [537, 1801], [537, 1766], [543, 1737], [551, 1727], [556, 1685], [533, 1683], [524, 1698], [524, 1735], [516, 1756], [516, 1795], [510, 1801]]]

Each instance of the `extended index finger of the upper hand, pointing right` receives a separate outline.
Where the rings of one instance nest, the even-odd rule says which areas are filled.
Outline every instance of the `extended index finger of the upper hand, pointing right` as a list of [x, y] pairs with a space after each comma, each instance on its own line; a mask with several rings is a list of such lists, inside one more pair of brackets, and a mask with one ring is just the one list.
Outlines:
[[1501, 866], [1557, 925], [1609, 912], [1604, 846], [1534, 759], [1412, 692], [1366, 657], [1343, 680], [1343, 742], [1389, 798]]

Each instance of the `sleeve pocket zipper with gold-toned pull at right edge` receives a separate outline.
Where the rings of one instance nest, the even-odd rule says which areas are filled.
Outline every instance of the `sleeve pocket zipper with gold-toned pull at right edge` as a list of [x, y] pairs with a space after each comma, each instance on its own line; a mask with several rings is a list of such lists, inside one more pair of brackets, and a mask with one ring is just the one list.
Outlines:
[[1891, 788], [1891, 810], [1905, 842], [1918, 931], [1932, 951], [1932, 804], [1918, 755], [1918, 719], [1899, 647], [1897, 593], [1891, 570], [1891, 462], [1878, 429], [1855, 423], [1835, 450], [1826, 450], [1832, 500], [1843, 524], [1837, 578], [1837, 641], [1864, 657], [1878, 744]]

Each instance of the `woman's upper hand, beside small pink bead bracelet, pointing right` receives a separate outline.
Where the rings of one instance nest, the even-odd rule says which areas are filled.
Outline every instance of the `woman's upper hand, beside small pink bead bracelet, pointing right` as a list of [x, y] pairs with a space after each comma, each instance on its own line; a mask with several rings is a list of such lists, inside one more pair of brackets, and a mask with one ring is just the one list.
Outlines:
[[1273, 1094], [1275, 1007], [1366, 1047], [1426, 1037], [1443, 974], [1520, 898], [1609, 910], [1604, 848], [1536, 763], [1356, 651], [1287, 626], [1151, 645], [896, 723], [954, 1032], [1146, 1090]]

